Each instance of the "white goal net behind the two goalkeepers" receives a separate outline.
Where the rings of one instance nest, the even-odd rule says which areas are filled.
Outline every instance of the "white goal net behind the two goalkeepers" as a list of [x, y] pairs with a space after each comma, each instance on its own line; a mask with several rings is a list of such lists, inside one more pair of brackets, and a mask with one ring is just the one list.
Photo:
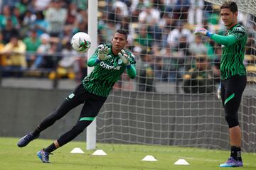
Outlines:
[[[190, 3], [188, 3], [190, 2]], [[222, 1], [99, 1], [98, 43], [129, 32], [137, 78], [123, 74], [97, 117], [97, 142], [228, 149], [228, 125], [216, 96], [221, 46], [193, 35], [223, 34]], [[237, 1], [247, 29], [247, 87], [239, 110], [242, 146], [256, 148], [255, 1]], [[245, 13], [246, 12], [246, 13]]]

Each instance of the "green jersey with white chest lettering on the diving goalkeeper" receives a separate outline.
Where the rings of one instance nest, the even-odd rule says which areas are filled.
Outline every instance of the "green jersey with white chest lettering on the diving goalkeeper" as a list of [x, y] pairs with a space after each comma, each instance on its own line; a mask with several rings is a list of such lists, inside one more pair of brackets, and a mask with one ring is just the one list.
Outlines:
[[[84, 88], [92, 94], [98, 96], [107, 97], [114, 86], [114, 83], [120, 79], [120, 76], [126, 69], [126, 64], [124, 64], [121, 58], [118, 55], [114, 55], [112, 52], [112, 44], [105, 43], [104, 47], [109, 47], [111, 49], [110, 59], [100, 61], [100, 63], [95, 64], [93, 71], [82, 80]], [[98, 55], [98, 50], [100, 47], [97, 47], [95, 53], [88, 60], [89, 62], [95, 62]], [[129, 56], [130, 63], [132, 67], [135, 66], [135, 57], [129, 50], [124, 50]], [[136, 70], [134, 71], [136, 74]], [[128, 72], [129, 74], [129, 72]]]

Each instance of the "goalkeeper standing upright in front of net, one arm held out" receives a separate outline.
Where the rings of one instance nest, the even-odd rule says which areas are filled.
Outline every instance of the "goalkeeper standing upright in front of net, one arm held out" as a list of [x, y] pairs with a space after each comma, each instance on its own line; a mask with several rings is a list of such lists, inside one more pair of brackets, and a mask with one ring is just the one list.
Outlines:
[[229, 128], [231, 154], [228, 161], [220, 164], [220, 167], [238, 167], [242, 166], [238, 108], [247, 81], [243, 64], [247, 34], [245, 28], [238, 23], [238, 6], [235, 2], [224, 2], [220, 6], [220, 17], [227, 27], [225, 36], [210, 33], [204, 28], [196, 30], [195, 34], [206, 35], [222, 45], [220, 96]]

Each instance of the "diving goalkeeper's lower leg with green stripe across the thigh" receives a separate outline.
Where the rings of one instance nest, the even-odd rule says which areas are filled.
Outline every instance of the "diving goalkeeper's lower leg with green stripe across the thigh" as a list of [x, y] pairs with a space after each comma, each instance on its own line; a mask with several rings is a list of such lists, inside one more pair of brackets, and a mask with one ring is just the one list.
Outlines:
[[[58, 147], [62, 147], [63, 145], [67, 144], [77, 137], [83, 130], [85, 130], [85, 128], [87, 128], [87, 126], [90, 125], [90, 123], [92, 123], [92, 121], [95, 119], [106, 99], [107, 98], [90, 94], [90, 98], [85, 101], [85, 105], [82, 107], [78, 122], [73, 126], [73, 128], [61, 135], [58, 140], [55, 140], [55, 142], [46, 147], [46, 149], [42, 149], [38, 152], [38, 157], [42, 160], [42, 162], [48, 163], [48, 156], [51, 152]], [[46, 154], [47, 157], [44, 158], [41, 154]]]

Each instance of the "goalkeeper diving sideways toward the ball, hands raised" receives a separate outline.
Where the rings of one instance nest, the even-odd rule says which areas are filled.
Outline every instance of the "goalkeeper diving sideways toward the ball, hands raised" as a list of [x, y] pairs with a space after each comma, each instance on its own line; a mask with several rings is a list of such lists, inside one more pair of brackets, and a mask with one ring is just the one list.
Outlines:
[[82, 80], [63, 103], [48, 115], [34, 130], [18, 141], [18, 147], [25, 147], [29, 142], [39, 137], [40, 133], [63, 118], [71, 109], [83, 104], [78, 122], [71, 130], [61, 135], [51, 145], [38, 152], [38, 157], [43, 163], [49, 163], [49, 154], [58, 147], [62, 147], [78, 136], [95, 119], [103, 103], [105, 103], [114, 83], [124, 72], [131, 79], [136, 77], [135, 57], [129, 50], [124, 50], [127, 45], [127, 32], [117, 30], [112, 38], [112, 43], [104, 43], [97, 47], [95, 53], [87, 62], [93, 71]]

